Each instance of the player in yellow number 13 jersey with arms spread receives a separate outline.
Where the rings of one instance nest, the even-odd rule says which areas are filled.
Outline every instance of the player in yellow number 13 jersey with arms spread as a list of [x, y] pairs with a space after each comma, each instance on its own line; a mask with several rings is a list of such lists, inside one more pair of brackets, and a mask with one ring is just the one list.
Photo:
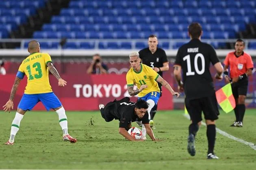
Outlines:
[[13, 145], [15, 135], [19, 131], [20, 121], [24, 114], [27, 110], [32, 110], [38, 102], [42, 102], [46, 107], [46, 110], [50, 110], [52, 108], [59, 115], [59, 124], [63, 131], [63, 140], [68, 140], [72, 143], [76, 142], [76, 139], [70, 136], [67, 132], [67, 116], [65, 114], [65, 109], [59, 99], [52, 92], [52, 87], [49, 83], [48, 70], [50, 70], [54, 77], [58, 79], [59, 86], [64, 87], [67, 85], [67, 82], [61, 79], [59, 73], [52, 64], [50, 55], [48, 53], [40, 53], [40, 45], [37, 41], [32, 40], [29, 42], [28, 52], [30, 55], [23, 60], [17, 72], [15, 82], [11, 89], [10, 99], [3, 106], [4, 112], [9, 110], [10, 113], [11, 109], [13, 109], [13, 98], [16, 94], [16, 90], [20, 81], [26, 74], [26, 77], [28, 78], [26, 89], [11, 124], [10, 139], [5, 144]]

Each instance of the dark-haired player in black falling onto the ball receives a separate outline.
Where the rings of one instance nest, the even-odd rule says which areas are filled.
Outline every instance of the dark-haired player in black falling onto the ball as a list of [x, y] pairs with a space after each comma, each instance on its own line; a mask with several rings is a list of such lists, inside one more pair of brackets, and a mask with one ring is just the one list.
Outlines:
[[148, 103], [145, 100], [137, 100], [136, 103], [130, 102], [130, 98], [125, 97], [121, 100], [114, 100], [104, 106], [99, 105], [100, 113], [106, 122], [118, 119], [119, 133], [126, 139], [131, 141], [143, 141], [146, 140], [145, 135], [141, 139], [133, 138], [127, 131], [132, 127], [131, 122], [142, 121], [145, 126], [147, 134], [152, 140], [156, 140], [154, 133], [149, 125], [148, 119]]

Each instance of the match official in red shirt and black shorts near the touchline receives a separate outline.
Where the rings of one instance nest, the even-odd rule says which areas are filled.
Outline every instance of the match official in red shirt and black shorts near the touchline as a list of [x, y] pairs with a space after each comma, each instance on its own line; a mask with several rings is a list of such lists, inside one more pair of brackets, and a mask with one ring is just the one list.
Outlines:
[[[245, 53], [243, 40], [236, 40], [235, 52], [230, 52], [224, 60], [224, 78], [226, 82], [232, 81], [232, 93], [236, 100], [234, 113], [236, 120], [231, 126], [243, 127], [243, 117], [245, 115], [245, 98], [248, 89], [248, 76], [252, 75], [254, 68], [252, 57]], [[230, 66], [230, 77], [228, 77], [228, 67]]]

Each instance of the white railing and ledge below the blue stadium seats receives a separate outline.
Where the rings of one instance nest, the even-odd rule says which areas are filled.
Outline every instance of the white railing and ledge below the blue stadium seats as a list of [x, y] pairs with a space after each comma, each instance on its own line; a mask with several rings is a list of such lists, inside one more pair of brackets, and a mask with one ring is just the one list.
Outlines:
[[[1, 56], [13, 56], [13, 55], [27, 55], [27, 47], [25, 45], [30, 41], [34, 39], [0, 39], [0, 43], [20, 43], [19, 49], [0, 49], [0, 55]], [[60, 42], [61, 39], [37, 39], [40, 43], [43, 42]], [[177, 53], [178, 47], [176, 49], [173, 49], [175, 44], [179, 43], [179, 45], [182, 45], [182, 43], [187, 43], [189, 39], [159, 39], [158, 44], [161, 47], [161, 44], [163, 43], [169, 43], [169, 48], [163, 48], [165, 49], [168, 56], [175, 56]], [[203, 42], [206, 43], [234, 43], [236, 39], [202, 39]], [[247, 51], [252, 57], [256, 57], [256, 47], [254, 50], [254, 47], [251, 47], [248, 49], [249, 44], [256, 44], [256, 39], [244, 39], [245, 41], [245, 51]], [[128, 53], [131, 51], [138, 51], [142, 48], [136, 48], [136, 43], [144, 43], [145, 47], [147, 46], [147, 39], [67, 39], [67, 42], [73, 42], [73, 43], [94, 43], [93, 49], [63, 49], [61, 45], [58, 45], [56, 49], [46, 49], [41, 48], [42, 51], [48, 52], [53, 56], [91, 56], [95, 52], [100, 53], [102, 56], [127, 56]], [[100, 43], [131, 43], [131, 49], [100, 49], [99, 44]], [[232, 49], [217, 49], [217, 55], [218, 56], [226, 56], [228, 52], [232, 51]]]

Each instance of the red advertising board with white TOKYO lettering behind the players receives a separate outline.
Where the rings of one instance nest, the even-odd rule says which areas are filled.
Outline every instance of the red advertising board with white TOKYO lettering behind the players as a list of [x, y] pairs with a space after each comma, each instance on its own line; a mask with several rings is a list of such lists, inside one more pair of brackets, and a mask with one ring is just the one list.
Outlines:
[[[3, 106], [8, 101], [15, 76], [15, 74], [0, 75], [0, 106]], [[98, 110], [100, 103], [106, 104], [115, 98], [119, 100], [125, 96], [130, 97], [127, 92], [126, 74], [64, 74], [62, 78], [67, 81], [67, 86], [65, 87], [59, 87], [58, 81], [52, 75], [49, 77], [52, 90], [66, 110]], [[172, 85], [171, 77], [166, 78], [166, 81]], [[24, 78], [17, 90], [14, 100], [15, 110], [24, 93], [26, 81], [26, 78]], [[136, 100], [136, 97], [131, 97], [131, 101]], [[172, 96], [163, 87], [163, 96], [158, 101], [158, 110], [170, 109], [173, 109]], [[45, 110], [45, 108], [39, 102], [33, 110]]]

